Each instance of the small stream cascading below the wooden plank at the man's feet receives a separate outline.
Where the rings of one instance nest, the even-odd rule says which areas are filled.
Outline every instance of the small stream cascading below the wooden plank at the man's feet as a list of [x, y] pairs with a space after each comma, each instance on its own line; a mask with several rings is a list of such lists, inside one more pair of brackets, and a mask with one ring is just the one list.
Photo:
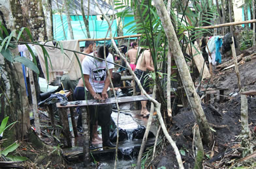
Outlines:
[[[131, 168], [135, 166], [138, 151], [140, 150], [142, 138], [146, 130], [146, 123], [148, 122], [148, 118], [139, 116], [139, 111], [129, 109], [129, 103], [122, 105], [119, 116], [120, 142], [118, 145], [118, 168]], [[117, 110], [113, 109], [111, 116], [114, 123], [117, 124]], [[153, 146], [155, 132], [156, 127], [152, 124], [146, 147]], [[66, 156], [67, 161], [72, 163], [72, 167], [84, 168], [82, 163], [82, 140], [79, 141], [79, 139], [80, 138], [78, 138], [78, 146], [64, 150], [64, 156]], [[112, 142], [116, 140], [116, 130], [110, 133], [110, 140], [112, 140]], [[116, 142], [113, 143], [116, 144]], [[97, 161], [98, 168], [114, 168], [116, 149], [103, 150], [101, 144], [97, 146], [99, 149], [97, 149], [97, 151], [91, 151], [91, 154], [95, 161]], [[96, 167], [96, 165], [93, 164], [93, 158], [91, 167], [89, 168]]]

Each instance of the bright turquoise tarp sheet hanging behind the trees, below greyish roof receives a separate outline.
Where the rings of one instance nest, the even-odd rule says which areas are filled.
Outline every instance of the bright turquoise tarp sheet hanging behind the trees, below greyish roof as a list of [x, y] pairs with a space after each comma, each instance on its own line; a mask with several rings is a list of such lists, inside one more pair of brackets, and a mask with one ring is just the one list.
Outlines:
[[[61, 17], [59, 15], [53, 15], [53, 23], [54, 23], [54, 39], [55, 40], [71, 40], [70, 34], [69, 34], [69, 28], [67, 25], [67, 16], [62, 15], [63, 19], [63, 25], [61, 24]], [[71, 16], [71, 26], [74, 34], [74, 39], [85, 39], [87, 38], [86, 33], [86, 27], [84, 26], [84, 20], [82, 16]], [[133, 21], [133, 17], [125, 17], [123, 19], [124, 25], [129, 23], [130, 21]], [[130, 27], [135, 25], [135, 23], [123, 28], [123, 35], [131, 35], [135, 33], [127, 32]], [[117, 36], [117, 23], [116, 19], [114, 19], [114, 22], [112, 24], [112, 36]], [[65, 30], [65, 35], [64, 31]], [[109, 37], [108, 32], [108, 23], [103, 21], [98, 21], [96, 16], [89, 16], [89, 32], [91, 38], [105, 38]], [[106, 36], [106, 32], [108, 32], [108, 35]], [[66, 36], [66, 38], [65, 38]], [[80, 46], [84, 46], [84, 42], [80, 42]]]

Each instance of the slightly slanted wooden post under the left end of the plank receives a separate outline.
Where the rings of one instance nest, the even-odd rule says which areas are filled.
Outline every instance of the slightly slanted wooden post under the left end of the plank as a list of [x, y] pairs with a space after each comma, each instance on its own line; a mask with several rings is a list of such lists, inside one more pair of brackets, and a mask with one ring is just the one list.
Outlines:
[[59, 108], [59, 117], [61, 118], [62, 127], [63, 127], [63, 135], [67, 140], [67, 146], [72, 148], [72, 141], [71, 141], [71, 131], [69, 130], [69, 119], [67, 116], [67, 109]]

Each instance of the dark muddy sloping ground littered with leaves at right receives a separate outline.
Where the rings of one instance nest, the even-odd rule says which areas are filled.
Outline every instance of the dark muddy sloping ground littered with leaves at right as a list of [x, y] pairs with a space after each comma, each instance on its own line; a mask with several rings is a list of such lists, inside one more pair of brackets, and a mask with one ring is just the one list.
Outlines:
[[[229, 59], [225, 59], [229, 60]], [[244, 62], [239, 66], [242, 86], [245, 90], [256, 89], [256, 60]], [[206, 118], [213, 127], [215, 144], [213, 148], [204, 146], [204, 167], [206, 168], [228, 168], [234, 164], [234, 160], [241, 158], [241, 153], [237, 151], [240, 147], [238, 136], [241, 132], [240, 125], [240, 95], [238, 92], [237, 78], [234, 68], [224, 71], [215, 71], [214, 85], [223, 88], [229, 88], [225, 91], [224, 103], [211, 101], [208, 105], [202, 105]], [[232, 97], [231, 97], [232, 96]], [[213, 103], [214, 102], [214, 103]], [[211, 109], [214, 106], [217, 110]], [[248, 98], [249, 127], [252, 134], [256, 125], [256, 98]], [[195, 157], [193, 155], [193, 131], [195, 125], [193, 113], [189, 108], [180, 109], [173, 118], [173, 125], [170, 128], [170, 135], [176, 141], [178, 149], [185, 152], [182, 155], [185, 168], [193, 168]], [[239, 149], [238, 149], [239, 150]], [[231, 162], [231, 160], [233, 161]], [[178, 168], [176, 156], [170, 145], [166, 146], [157, 159], [153, 162], [157, 168], [165, 166], [166, 168]]]

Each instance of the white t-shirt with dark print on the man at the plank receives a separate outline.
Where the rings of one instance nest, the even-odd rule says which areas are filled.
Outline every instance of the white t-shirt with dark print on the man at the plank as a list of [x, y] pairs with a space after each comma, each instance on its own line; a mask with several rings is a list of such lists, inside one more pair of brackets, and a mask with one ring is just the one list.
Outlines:
[[[90, 53], [89, 55], [93, 56], [93, 53]], [[108, 61], [108, 69], [113, 69], [114, 64], [109, 63], [114, 63], [113, 55], [111, 53], [106, 57], [106, 61]], [[93, 87], [93, 90], [97, 93], [101, 93], [104, 88], [104, 81], [106, 80], [106, 62], [87, 56], [82, 62], [82, 70], [84, 75], [89, 75], [89, 83]], [[108, 87], [108, 90], [109, 89], [110, 88]], [[86, 90], [88, 91], [87, 88]]]

